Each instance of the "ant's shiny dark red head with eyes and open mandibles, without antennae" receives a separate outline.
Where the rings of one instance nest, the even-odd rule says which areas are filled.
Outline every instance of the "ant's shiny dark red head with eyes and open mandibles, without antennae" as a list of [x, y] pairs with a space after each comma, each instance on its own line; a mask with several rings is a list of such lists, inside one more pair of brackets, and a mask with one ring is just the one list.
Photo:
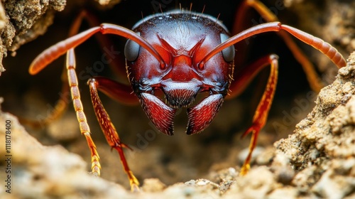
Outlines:
[[[176, 109], [192, 104], [197, 93], [208, 92], [200, 104], [187, 109], [187, 134], [203, 131], [227, 94], [234, 46], [209, 59], [204, 68], [198, 64], [207, 52], [229, 38], [226, 28], [217, 18], [178, 10], [144, 18], [133, 31], [145, 38], [166, 64], [157, 67], [158, 60], [148, 50], [127, 41], [124, 53], [129, 80], [149, 119], [160, 131], [172, 135]], [[154, 95], [157, 90], [163, 91], [166, 104]]]

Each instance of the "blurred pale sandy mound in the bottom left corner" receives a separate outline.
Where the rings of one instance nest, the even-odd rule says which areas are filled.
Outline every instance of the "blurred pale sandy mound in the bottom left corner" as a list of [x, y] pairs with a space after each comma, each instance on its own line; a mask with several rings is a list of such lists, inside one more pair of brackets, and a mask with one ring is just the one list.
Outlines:
[[[11, 176], [6, 176], [4, 169], [0, 173], [1, 179], [11, 179], [11, 186], [1, 185], [0, 198], [61, 198], [63, 195], [66, 198], [115, 198], [119, 195], [133, 198], [121, 185], [88, 173], [87, 163], [80, 156], [62, 146], [40, 144], [11, 114], [0, 112], [0, 124], [4, 125], [0, 130], [1, 167], [4, 159], [11, 158], [7, 166]], [[11, 134], [6, 133], [6, 124], [11, 124]], [[11, 141], [6, 150], [2, 145], [5, 135], [9, 135], [6, 140]]]

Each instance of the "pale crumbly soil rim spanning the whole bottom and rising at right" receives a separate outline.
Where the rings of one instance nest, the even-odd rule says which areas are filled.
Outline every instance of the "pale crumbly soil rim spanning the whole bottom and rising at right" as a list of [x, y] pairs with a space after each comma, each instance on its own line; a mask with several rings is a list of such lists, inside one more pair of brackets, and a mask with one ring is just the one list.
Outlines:
[[[355, 52], [337, 80], [324, 87], [316, 106], [287, 139], [266, 154], [271, 163], [253, 166], [246, 176], [239, 167], [209, 173], [209, 179], [165, 185], [158, 179], [143, 181], [139, 193], [87, 173], [80, 156], [62, 146], [43, 146], [29, 135], [16, 117], [1, 112], [1, 143], [11, 136], [9, 149], [1, 147], [1, 167], [11, 176], [9, 187], [0, 187], [1, 198], [354, 198], [355, 197]], [[9, 150], [9, 151], [7, 151]], [[11, 155], [4, 163], [6, 154]], [[256, 157], [263, 162], [261, 153]], [[258, 162], [258, 161], [256, 161]], [[4, 170], [2, 170], [4, 171]], [[15, 172], [16, 171], [16, 172]], [[19, 183], [21, 182], [21, 183]], [[10, 190], [11, 194], [6, 193]], [[21, 190], [21, 191], [18, 191]]]

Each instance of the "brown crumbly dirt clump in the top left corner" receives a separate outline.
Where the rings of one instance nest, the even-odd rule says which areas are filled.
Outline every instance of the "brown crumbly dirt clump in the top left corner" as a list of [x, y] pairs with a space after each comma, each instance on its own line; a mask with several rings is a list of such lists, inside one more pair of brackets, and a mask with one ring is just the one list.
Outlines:
[[43, 35], [53, 23], [55, 11], [62, 11], [65, 4], [65, 0], [1, 1], [0, 75], [5, 70], [2, 59], [8, 51], [15, 52], [24, 43]]

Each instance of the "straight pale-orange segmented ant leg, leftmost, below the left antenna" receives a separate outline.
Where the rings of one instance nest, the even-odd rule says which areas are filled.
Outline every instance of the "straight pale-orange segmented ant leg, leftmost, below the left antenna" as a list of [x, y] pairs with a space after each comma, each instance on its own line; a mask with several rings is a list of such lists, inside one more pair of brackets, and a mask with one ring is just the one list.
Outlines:
[[94, 144], [94, 141], [92, 141], [92, 137], [90, 136], [91, 131], [89, 128], [89, 124], [87, 124], [87, 119], [84, 113], [84, 107], [82, 107], [82, 101], [80, 99], [80, 90], [77, 81], [77, 74], [75, 72], [75, 55], [73, 48], [67, 51], [66, 65], [70, 92], [72, 94], [72, 103], [74, 105], [75, 112], [77, 113], [77, 121], [79, 122], [81, 133], [87, 139], [87, 145], [89, 146], [91, 152], [92, 173], [94, 173], [94, 175], [100, 176], [100, 158], [99, 154], [97, 153], [97, 148]]

